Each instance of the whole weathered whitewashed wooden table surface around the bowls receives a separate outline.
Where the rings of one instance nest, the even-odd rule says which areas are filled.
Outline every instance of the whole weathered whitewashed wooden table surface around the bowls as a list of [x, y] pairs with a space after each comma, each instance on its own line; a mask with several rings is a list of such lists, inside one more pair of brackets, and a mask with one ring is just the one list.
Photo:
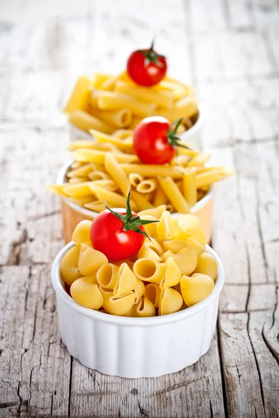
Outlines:
[[[209, 353], [154, 379], [104, 376], [61, 343], [50, 267], [63, 246], [61, 108], [78, 75], [119, 72], [149, 45], [205, 104], [225, 264]], [[0, 417], [278, 417], [277, 0], [0, 1]], [[198, 332], [198, 330], [197, 330]]]

